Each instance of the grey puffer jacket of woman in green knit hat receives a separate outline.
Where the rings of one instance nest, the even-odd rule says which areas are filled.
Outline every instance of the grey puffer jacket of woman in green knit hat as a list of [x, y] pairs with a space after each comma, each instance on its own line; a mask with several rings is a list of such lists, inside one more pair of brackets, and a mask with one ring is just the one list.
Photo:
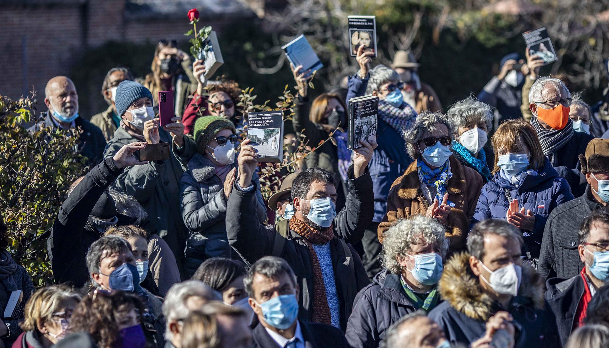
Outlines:
[[[180, 179], [180, 201], [184, 224], [189, 231], [185, 249], [185, 272], [190, 277], [199, 265], [210, 257], [241, 259], [228, 244], [226, 230], [227, 198], [224, 182], [214, 173], [214, 164], [197, 153], [188, 162], [188, 170]], [[258, 175], [252, 181], [256, 187], [256, 216], [266, 218], [266, 207]]]

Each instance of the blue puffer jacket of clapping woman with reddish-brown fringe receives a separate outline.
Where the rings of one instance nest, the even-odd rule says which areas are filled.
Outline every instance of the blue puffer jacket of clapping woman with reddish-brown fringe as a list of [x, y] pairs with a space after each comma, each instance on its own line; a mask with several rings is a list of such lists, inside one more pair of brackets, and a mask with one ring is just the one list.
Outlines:
[[565, 179], [560, 178], [550, 162], [547, 161], [538, 174], [523, 173], [518, 188], [502, 178], [499, 173], [482, 187], [482, 192], [476, 205], [476, 213], [472, 220], [486, 220], [488, 218], [504, 219], [509, 207], [505, 190], [510, 191], [512, 200], [518, 200], [518, 207], [528, 210], [535, 215], [535, 228], [533, 231], [522, 231], [524, 242], [529, 246], [532, 257], [539, 257], [541, 237], [546, 226], [548, 215], [558, 204], [573, 199], [571, 187]]

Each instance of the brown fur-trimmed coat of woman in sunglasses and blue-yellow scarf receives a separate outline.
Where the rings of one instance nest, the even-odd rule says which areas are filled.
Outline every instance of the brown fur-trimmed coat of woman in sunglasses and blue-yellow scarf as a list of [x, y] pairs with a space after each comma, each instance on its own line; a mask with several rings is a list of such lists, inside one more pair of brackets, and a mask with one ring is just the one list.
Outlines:
[[[452, 178], [448, 180], [448, 200], [455, 204], [448, 214], [446, 238], [450, 242], [449, 254], [465, 249], [465, 238], [470, 231], [470, 221], [476, 212], [476, 204], [484, 181], [475, 170], [464, 167], [451, 156]], [[395, 221], [416, 214], [426, 214], [429, 207], [420, 188], [417, 161], [412, 162], [403, 176], [397, 178], [387, 197], [387, 214], [379, 224], [378, 237], [382, 243], [383, 234]]]

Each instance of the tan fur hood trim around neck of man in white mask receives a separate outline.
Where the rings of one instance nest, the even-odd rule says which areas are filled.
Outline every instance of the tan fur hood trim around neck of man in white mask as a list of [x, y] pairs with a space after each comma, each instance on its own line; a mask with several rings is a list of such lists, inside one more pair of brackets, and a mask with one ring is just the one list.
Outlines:
[[[529, 302], [530, 307], [540, 310], [544, 304], [543, 285], [540, 274], [531, 266], [523, 265], [518, 297]], [[478, 277], [471, 271], [470, 254], [467, 252], [455, 254], [446, 263], [438, 289], [444, 301], [471, 319], [487, 321], [496, 311], [493, 309], [493, 299], [482, 290]]]

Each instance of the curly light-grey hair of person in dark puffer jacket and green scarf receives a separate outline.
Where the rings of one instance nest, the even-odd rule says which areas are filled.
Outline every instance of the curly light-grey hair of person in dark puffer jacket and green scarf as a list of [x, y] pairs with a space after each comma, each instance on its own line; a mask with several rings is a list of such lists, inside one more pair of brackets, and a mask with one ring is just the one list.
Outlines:
[[427, 243], [437, 243], [442, 251], [442, 258], [448, 250], [446, 229], [438, 221], [414, 215], [406, 220], [400, 220], [391, 226], [384, 235], [382, 243], [382, 262], [385, 268], [393, 274], [401, 274], [402, 266], [397, 258], [411, 251], [410, 246], [417, 243], [422, 236]]

